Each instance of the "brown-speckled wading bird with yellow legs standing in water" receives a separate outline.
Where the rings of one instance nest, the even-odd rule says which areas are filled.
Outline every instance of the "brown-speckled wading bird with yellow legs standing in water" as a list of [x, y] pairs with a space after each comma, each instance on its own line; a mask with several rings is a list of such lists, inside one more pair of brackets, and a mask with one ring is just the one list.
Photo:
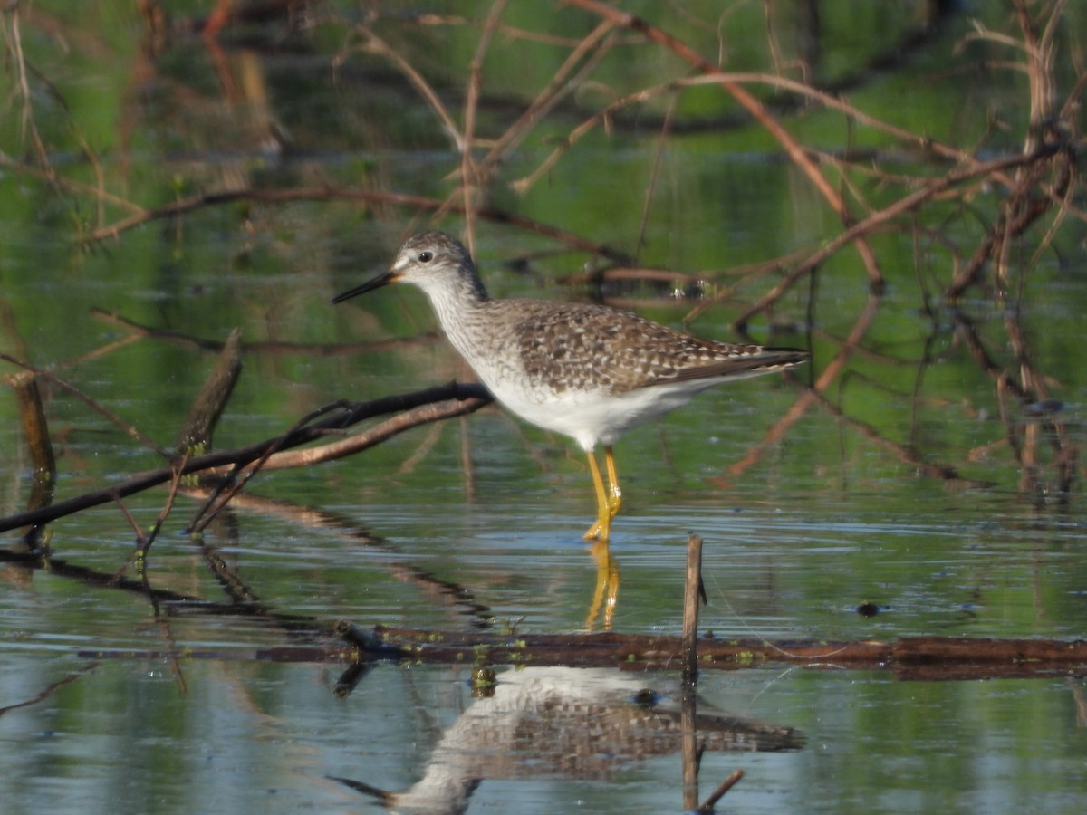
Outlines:
[[[588, 455], [607, 543], [622, 492], [612, 443], [626, 430], [721, 383], [792, 367], [807, 351], [699, 339], [602, 305], [492, 300], [472, 256], [438, 231], [409, 238], [392, 267], [333, 300], [390, 283], [423, 289], [449, 341], [495, 398], [534, 425], [570, 436]], [[604, 486], [595, 448], [604, 446]]]

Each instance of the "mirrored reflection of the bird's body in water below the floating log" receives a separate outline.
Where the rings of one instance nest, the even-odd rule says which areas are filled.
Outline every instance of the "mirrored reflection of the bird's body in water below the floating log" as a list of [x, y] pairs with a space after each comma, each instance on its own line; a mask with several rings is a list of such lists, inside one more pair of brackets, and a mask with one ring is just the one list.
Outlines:
[[[678, 753], [684, 736], [679, 688], [652, 689], [659, 675], [609, 668], [538, 667], [499, 676], [446, 730], [422, 777], [388, 792], [345, 778], [352, 789], [398, 813], [461, 813], [485, 780], [561, 777], [607, 780], [633, 762]], [[688, 697], [694, 705], [694, 695]], [[688, 709], [688, 715], [690, 714]], [[803, 737], [789, 727], [695, 712], [701, 750], [798, 750]]]

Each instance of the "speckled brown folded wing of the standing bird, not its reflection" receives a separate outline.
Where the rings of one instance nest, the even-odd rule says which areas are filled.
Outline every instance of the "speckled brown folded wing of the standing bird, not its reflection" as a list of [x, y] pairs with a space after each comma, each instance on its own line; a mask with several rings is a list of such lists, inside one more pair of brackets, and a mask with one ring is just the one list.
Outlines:
[[[536, 306], [532, 301], [521, 301]], [[525, 373], [560, 392], [636, 388], [760, 368], [788, 367], [807, 354], [794, 350], [713, 342], [674, 331], [634, 314], [598, 305], [539, 303], [524, 311], [517, 338]]]

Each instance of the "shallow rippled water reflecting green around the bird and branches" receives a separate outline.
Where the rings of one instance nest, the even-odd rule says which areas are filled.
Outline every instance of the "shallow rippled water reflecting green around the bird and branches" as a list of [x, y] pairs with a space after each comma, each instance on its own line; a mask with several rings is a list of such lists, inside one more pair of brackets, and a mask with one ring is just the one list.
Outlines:
[[[35, 4], [41, 15], [49, 7]], [[51, 17], [24, 18], [23, 33], [99, 151], [97, 166], [113, 193], [153, 206], [247, 184], [451, 191], [457, 156], [411, 85], [372, 55], [336, 62], [358, 22], [351, 14], [345, 12], [350, 23], [301, 34], [258, 26], [250, 32], [255, 50], [227, 38], [216, 53], [182, 37], [163, 52], [137, 53], [133, 43], [150, 43], [130, 4], [101, 7], [116, 20], [89, 7], [80, 7], [86, 18], [71, 21], [53, 10]], [[511, 25], [542, 26], [533, 20], [542, 12], [529, 11], [536, 8], [511, 4]], [[738, 8], [728, 25], [747, 21], [761, 32], [761, 18], [744, 16], [750, 11]], [[879, 41], [857, 33], [864, 25], [905, 25], [865, 17], [852, 21], [854, 30], [830, 5], [824, 11], [824, 70], [835, 77], [863, 67]], [[542, 18], [564, 36], [586, 33], [569, 16]], [[676, 30], [713, 51], [714, 27], [688, 29], [688, 22], [676, 22]], [[473, 53], [475, 28], [439, 36], [413, 27], [408, 15], [382, 24], [390, 39], [422, 40], [413, 58], [445, 93], [463, 87], [457, 66]], [[961, 86], [933, 80], [963, 71], [954, 42], [969, 24], [949, 25], [907, 64], [862, 74], [854, 101], [957, 143], [973, 143], [990, 108], [1015, 125], [1017, 86], [985, 72]], [[1087, 28], [1070, 23], [1076, 30]], [[66, 32], [74, 45], [57, 48], [49, 32]], [[765, 70], [769, 55], [746, 53], [754, 39], [734, 39], [734, 59]], [[498, 65], [512, 60], [518, 71], [535, 71], [538, 52], [522, 59], [518, 42], [496, 46]], [[539, 65], [553, 71], [554, 55]], [[652, 73], [650, 65], [663, 71], [664, 63], [624, 60], [604, 63], [610, 80]], [[511, 105], [521, 110], [524, 91], [507, 87], [518, 71], [488, 73], [488, 131], [508, 124]], [[263, 99], [232, 96], [238, 87], [252, 91], [242, 78], [262, 79]], [[584, 104], [591, 92], [587, 86]], [[730, 115], [715, 96], [698, 93], [683, 102], [704, 104], [699, 116]], [[989, 106], [978, 104], [983, 98]], [[89, 184], [93, 166], [85, 164], [93, 162], [80, 161], [78, 147], [65, 141], [67, 114], [37, 104], [58, 166]], [[840, 231], [761, 131], [723, 124], [692, 134], [680, 116], [658, 155], [653, 123], [663, 110], [647, 108], [640, 125], [617, 121], [557, 164], [547, 183], [514, 198], [507, 184], [537, 167], [554, 138], [588, 115], [573, 103], [560, 106], [510, 155], [495, 205], [626, 251], [637, 246], [647, 178], [657, 166], [637, 260], [703, 280], [705, 294], [740, 278], [729, 269]], [[251, 129], [268, 112], [292, 133], [292, 149], [278, 155], [265, 149], [263, 131]], [[840, 122], [813, 113], [789, 123], [812, 142], [845, 146]], [[24, 142], [7, 127], [0, 146], [14, 155]], [[886, 147], [879, 139], [870, 145], [864, 130], [857, 138], [851, 147]], [[1017, 145], [991, 149], [1015, 152]], [[919, 170], [913, 158], [895, 155], [875, 160]], [[424, 215], [320, 196], [240, 202], [80, 249], [77, 235], [99, 225], [92, 198], [60, 195], [13, 168], [0, 187], [0, 350], [49, 366], [162, 446], [173, 443], [215, 343], [234, 327], [242, 329], [245, 368], [216, 449], [276, 436], [336, 400], [470, 377], [435, 336], [415, 292], [395, 288], [328, 303], [383, 268]], [[879, 185], [864, 192], [872, 200], [888, 195]], [[984, 221], [997, 199], [978, 189], [970, 203]], [[107, 223], [129, 212], [112, 202], [105, 209]], [[1025, 294], [1016, 309], [978, 290], [957, 310], [938, 294], [961, 258], [942, 252], [953, 246], [969, 253], [979, 233], [970, 220], [934, 221], [939, 240], [920, 247], [908, 231], [874, 238], [888, 277], [874, 304], [855, 261], [838, 255], [821, 267], [817, 285], [791, 290], [773, 315], [753, 321], [760, 341], [813, 350], [812, 364], [796, 376], [719, 388], [616, 444], [624, 507], [611, 547], [621, 577], [613, 630], [679, 632], [686, 542], [695, 532], [704, 540], [702, 630], [717, 638], [1083, 637], [1087, 513], [1075, 457], [1087, 404], [1083, 227], [1070, 218], [1055, 249], [1037, 259], [1034, 244], [1020, 248], [1015, 273]], [[438, 222], [451, 231], [462, 225], [452, 216]], [[497, 296], [589, 296], [560, 284], [582, 272], [588, 255], [540, 235], [484, 221], [477, 255]], [[730, 321], [774, 279], [748, 280], [691, 329], [732, 338]], [[649, 285], [611, 284], [603, 293], [676, 326], [703, 302], [675, 301]], [[791, 413], [866, 309], [874, 316], [857, 352], [820, 400]], [[124, 321], [160, 334], [136, 336]], [[1011, 381], [1025, 371], [1037, 375], [1058, 400], [1055, 412], [1038, 415], [1037, 405], [1011, 398], [971, 352], [971, 338]], [[4, 365], [3, 373], [14, 371]], [[58, 498], [160, 466], [157, 454], [85, 402], [42, 387], [59, 456]], [[32, 476], [10, 392], [0, 398], [0, 514], [9, 515], [25, 507]], [[775, 429], [779, 437], [766, 440]], [[1069, 489], [1061, 455], [1072, 456]], [[335, 659], [339, 619], [364, 628], [600, 630], [603, 616], [590, 612], [597, 564], [580, 538], [594, 497], [572, 443], [487, 408], [348, 460], [261, 474], [208, 528], [202, 546], [184, 532], [199, 505], [189, 489], [183, 487], [148, 555], [154, 603], [132, 568], [132, 582], [108, 582], [136, 538], [115, 505], [51, 524], [49, 568], [32, 568], [18, 535], [4, 535], [5, 812], [378, 810], [361, 785], [425, 793], [416, 803], [438, 811], [659, 813], [687, 805], [678, 737], [663, 748], [654, 741], [650, 751], [642, 750], [652, 741], [645, 732], [625, 741], [604, 729], [633, 713], [659, 716], [653, 722], [663, 727], [680, 695], [674, 670], [548, 674], [499, 665], [498, 689], [480, 699], [466, 665], [376, 663], [345, 678], [349, 665]], [[152, 490], [124, 505], [146, 530], [165, 501], [164, 490]], [[229, 587], [212, 563], [232, 575]], [[878, 613], [862, 616], [862, 603]], [[296, 651], [283, 661], [287, 648], [308, 656], [298, 660]], [[524, 690], [532, 682], [563, 692], [534, 699]], [[652, 715], [636, 704], [641, 688], [655, 692]], [[705, 669], [698, 690], [704, 738], [720, 734], [711, 725], [726, 717], [763, 728], [763, 741], [754, 740], [762, 750], [711, 745], [702, 757], [698, 801], [744, 770], [724, 810], [1063, 813], [1087, 801], [1087, 704], [1078, 675], [919, 681], [826, 662]], [[540, 698], [550, 702], [541, 706]], [[584, 705], [579, 718], [555, 713], [573, 702]], [[765, 735], [777, 729], [790, 740]], [[579, 740], [597, 730], [604, 741]], [[440, 782], [427, 789], [432, 777]], [[402, 807], [407, 801], [399, 799]]]

